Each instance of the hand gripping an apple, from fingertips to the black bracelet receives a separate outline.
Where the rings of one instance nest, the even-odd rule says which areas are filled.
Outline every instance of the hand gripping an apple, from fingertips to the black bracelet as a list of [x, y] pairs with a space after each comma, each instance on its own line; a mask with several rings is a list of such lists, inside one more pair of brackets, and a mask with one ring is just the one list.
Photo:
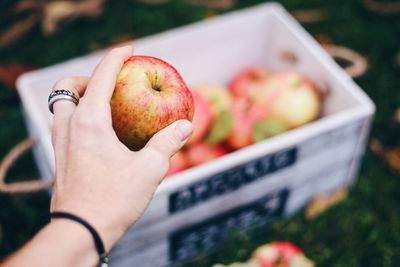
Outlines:
[[117, 138], [109, 101], [130, 47], [111, 50], [91, 77], [63, 79], [54, 90], [75, 90], [78, 106], [54, 104], [56, 181], [51, 211], [70, 212], [92, 224], [109, 251], [142, 215], [169, 168], [169, 158], [192, 133], [177, 121], [155, 134], [140, 151]]

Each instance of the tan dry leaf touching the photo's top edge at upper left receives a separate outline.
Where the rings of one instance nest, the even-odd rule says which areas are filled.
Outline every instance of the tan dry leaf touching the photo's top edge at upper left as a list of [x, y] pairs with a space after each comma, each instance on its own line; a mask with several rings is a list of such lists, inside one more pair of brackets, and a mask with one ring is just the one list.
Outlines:
[[104, 0], [49, 2], [44, 7], [43, 32], [50, 35], [57, 31], [62, 22], [81, 17], [97, 17], [102, 13], [103, 6]]

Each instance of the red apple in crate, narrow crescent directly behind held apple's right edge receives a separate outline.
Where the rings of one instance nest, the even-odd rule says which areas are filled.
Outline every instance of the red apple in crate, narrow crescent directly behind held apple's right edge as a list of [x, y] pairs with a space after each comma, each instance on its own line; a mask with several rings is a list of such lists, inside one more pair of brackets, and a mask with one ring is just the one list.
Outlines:
[[214, 113], [211, 105], [197, 91], [192, 91], [194, 100], [193, 133], [187, 145], [194, 144], [203, 139], [212, 126]]

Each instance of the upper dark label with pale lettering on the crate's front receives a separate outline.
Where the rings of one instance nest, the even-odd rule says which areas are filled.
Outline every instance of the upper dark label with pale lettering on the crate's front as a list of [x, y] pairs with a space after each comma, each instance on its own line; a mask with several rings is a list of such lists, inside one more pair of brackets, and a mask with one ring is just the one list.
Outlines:
[[169, 196], [169, 212], [180, 212], [211, 198], [236, 191], [266, 174], [293, 165], [296, 160], [297, 148], [290, 148], [202, 179], [172, 193]]

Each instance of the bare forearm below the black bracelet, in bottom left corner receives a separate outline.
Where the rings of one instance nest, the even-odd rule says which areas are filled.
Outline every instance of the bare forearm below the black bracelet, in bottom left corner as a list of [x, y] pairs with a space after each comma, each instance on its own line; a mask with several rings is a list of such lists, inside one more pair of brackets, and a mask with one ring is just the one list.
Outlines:
[[99, 261], [90, 233], [76, 222], [57, 219], [6, 259], [3, 267], [96, 266]]

